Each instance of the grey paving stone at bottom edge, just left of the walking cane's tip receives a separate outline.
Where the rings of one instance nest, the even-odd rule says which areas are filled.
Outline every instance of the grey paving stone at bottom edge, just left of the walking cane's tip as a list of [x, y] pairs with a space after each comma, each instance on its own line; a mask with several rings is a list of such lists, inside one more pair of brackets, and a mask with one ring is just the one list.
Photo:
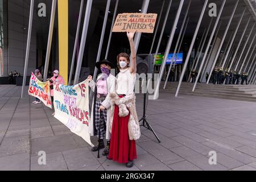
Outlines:
[[100, 164], [88, 148], [77, 148], [62, 153], [69, 170]]

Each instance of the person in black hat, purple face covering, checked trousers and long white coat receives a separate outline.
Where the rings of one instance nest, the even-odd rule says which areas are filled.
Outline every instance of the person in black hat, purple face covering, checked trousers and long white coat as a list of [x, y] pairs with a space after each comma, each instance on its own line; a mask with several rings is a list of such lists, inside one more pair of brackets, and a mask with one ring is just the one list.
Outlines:
[[108, 60], [104, 59], [96, 63], [96, 67], [101, 71], [98, 75], [97, 81], [93, 81], [91, 75], [88, 76], [89, 86], [94, 92], [92, 114], [90, 117], [90, 135], [98, 137], [98, 144], [92, 148], [93, 152], [98, 149], [104, 148], [104, 138], [106, 138], [106, 147], [102, 152], [103, 156], [109, 154], [110, 148], [110, 93], [115, 92], [115, 76], [110, 73], [110, 69], [114, 65]]

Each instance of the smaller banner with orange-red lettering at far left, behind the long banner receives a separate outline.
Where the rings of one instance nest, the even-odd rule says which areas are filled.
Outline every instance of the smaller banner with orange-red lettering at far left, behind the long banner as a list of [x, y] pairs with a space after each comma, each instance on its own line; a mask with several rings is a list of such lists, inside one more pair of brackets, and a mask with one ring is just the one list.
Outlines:
[[52, 108], [51, 95], [49, 91], [49, 81], [42, 82], [31, 73], [28, 95], [39, 98], [47, 107]]

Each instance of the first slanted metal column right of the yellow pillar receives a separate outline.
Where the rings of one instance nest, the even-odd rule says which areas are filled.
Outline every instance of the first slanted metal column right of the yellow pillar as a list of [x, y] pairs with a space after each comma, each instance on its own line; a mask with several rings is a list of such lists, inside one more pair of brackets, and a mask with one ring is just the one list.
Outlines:
[[79, 11], [79, 20], [77, 22], [76, 39], [75, 39], [75, 44], [74, 44], [71, 68], [70, 68], [70, 72], [69, 72], [68, 85], [71, 85], [71, 80], [72, 80], [72, 75], [73, 75], [73, 68], [74, 68], [74, 64], [75, 64], [76, 48], [77, 48], [77, 42], [78, 42], [78, 39], [79, 39], [79, 30], [80, 30], [80, 24], [81, 24], [81, 18], [82, 18], [82, 7], [83, 6], [84, 6], [84, 0], [81, 0], [80, 11]]

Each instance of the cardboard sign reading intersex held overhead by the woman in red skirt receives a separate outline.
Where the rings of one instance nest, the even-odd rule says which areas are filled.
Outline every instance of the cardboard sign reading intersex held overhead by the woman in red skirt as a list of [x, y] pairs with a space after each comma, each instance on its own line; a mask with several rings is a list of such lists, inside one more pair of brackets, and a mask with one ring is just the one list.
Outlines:
[[117, 15], [113, 32], [144, 32], [153, 33], [157, 14], [121, 13]]

